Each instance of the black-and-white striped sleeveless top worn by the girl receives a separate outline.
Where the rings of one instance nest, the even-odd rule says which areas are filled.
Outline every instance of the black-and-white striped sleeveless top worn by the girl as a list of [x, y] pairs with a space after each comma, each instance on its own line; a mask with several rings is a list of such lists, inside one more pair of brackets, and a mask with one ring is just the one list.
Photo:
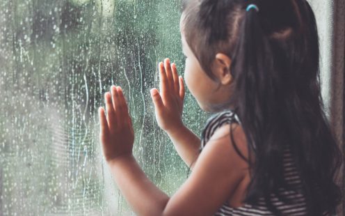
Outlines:
[[[218, 128], [220, 128], [222, 125], [231, 123], [241, 124], [241, 121], [235, 112], [230, 109], [220, 111], [209, 117], [204, 130], [202, 130], [200, 151], [202, 151], [204, 145], [207, 144], [207, 141], [209, 141], [212, 134], [214, 134]], [[283, 163], [284, 178], [287, 180], [288, 184], [299, 190], [302, 187], [301, 180], [300, 176], [298, 176], [298, 171], [289, 148], [284, 149]], [[307, 215], [305, 196], [302, 193], [297, 193], [295, 191], [283, 191], [282, 194], [286, 195], [284, 198], [292, 199], [294, 201], [293, 204], [287, 204], [283, 201], [280, 201], [274, 194], [271, 195], [271, 203], [280, 211], [282, 215]], [[274, 214], [268, 210], [264, 198], [262, 197], [255, 205], [245, 203], [243, 206], [238, 208], [230, 207], [228, 202], [225, 201], [223, 206], [221, 206], [214, 215], [257, 216]], [[323, 215], [327, 214], [324, 213]]]

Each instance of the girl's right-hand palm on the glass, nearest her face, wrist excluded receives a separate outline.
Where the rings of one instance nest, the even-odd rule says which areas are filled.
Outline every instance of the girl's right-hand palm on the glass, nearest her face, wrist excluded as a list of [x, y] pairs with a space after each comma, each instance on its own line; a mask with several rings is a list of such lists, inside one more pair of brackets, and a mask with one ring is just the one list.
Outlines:
[[176, 130], [183, 126], [184, 82], [169, 59], [159, 63], [159, 89], [160, 93], [157, 88], [150, 91], [157, 123], [166, 132]]

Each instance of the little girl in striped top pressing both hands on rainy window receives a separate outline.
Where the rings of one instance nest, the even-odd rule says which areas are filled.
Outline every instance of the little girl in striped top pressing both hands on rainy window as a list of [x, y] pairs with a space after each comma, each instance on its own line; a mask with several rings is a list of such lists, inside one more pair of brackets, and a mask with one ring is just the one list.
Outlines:
[[171, 197], [138, 166], [120, 86], [99, 108], [106, 162], [138, 215], [332, 215], [341, 155], [319, 86], [314, 13], [305, 0], [185, 0], [184, 79], [204, 111], [182, 123], [184, 82], [169, 59], [152, 88], [157, 122], [191, 175]]

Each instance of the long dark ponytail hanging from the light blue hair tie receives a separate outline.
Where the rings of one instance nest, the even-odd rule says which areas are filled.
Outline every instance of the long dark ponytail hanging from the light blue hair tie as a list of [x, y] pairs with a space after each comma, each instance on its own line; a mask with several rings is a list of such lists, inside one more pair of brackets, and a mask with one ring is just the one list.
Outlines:
[[[280, 86], [273, 86], [277, 77], [273, 68], [273, 53], [263, 31], [259, 13], [260, 11], [254, 9], [246, 11], [230, 71], [236, 80], [236, 94], [234, 94], [234, 100], [237, 102], [236, 114], [239, 115], [243, 131], [246, 133], [248, 152], [256, 155], [254, 167], [250, 164], [251, 171], [254, 172], [251, 172], [252, 182], [248, 187], [246, 201], [255, 203], [260, 196], [264, 196], [268, 207], [275, 215], [279, 215], [278, 210], [271, 204], [270, 195], [272, 191], [278, 189], [278, 185], [284, 185], [284, 179], [281, 178], [283, 165], [281, 160], [277, 160], [282, 158], [283, 152], [282, 148], [277, 148], [274, 144], [274, 141], [278, 141], [275, 139], [278, 138], [276, 136], [280, 134], [276, 133], [278, 131], [274, 130], [273, 124], [270, 123], [274, 120], [279, 121], [280, 117], [276, 107], [270, 105], [278, 103]], [[249, 162], [252, 161], [250, 155]], [[276, 168], [271, 169], [272, 166]], [[271, 176], [270, 170], [279, 173]], [[268, 176], [270, 178], [267, 178]]]

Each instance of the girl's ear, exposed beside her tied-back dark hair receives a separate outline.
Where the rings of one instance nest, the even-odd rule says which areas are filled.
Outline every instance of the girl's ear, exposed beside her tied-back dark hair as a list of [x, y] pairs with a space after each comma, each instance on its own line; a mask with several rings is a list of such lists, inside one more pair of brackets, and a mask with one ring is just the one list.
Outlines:
[[216, 54], [214, 59], [214, 75], [218, 77], [218, 80], [223, 85], [232, 83], [233, 77], [230, 72], [231, 59], [223, 54]]

